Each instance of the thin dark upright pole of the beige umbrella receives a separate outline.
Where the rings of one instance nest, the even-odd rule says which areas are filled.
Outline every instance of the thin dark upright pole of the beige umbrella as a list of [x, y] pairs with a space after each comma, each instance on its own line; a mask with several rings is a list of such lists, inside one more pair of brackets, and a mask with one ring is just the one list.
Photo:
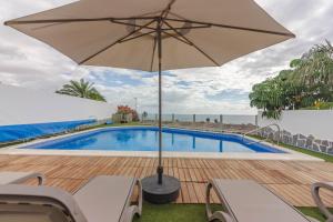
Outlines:
[[162, 165], [162, 37], [161, 21], [158, 21], [157, 38], [158, 38], [158, 54], [159, 54], [159, 167], [158, 182], [163, 183], [163, 165]]

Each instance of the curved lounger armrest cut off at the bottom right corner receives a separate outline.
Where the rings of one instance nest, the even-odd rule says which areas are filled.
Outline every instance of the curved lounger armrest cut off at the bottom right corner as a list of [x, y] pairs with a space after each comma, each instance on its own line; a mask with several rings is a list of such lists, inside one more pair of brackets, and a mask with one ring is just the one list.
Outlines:
[[312, 184], [311, 186], [311, 194], [312, 198], [320, 209], [320, 211], [327, 218], [327, 222], [333, 222], [333, 214], [329, 211], [327, 206], [324, 204], [320, 196], [320, 189], [327, 189], [333, 192], [333, 182], [317, 182]]

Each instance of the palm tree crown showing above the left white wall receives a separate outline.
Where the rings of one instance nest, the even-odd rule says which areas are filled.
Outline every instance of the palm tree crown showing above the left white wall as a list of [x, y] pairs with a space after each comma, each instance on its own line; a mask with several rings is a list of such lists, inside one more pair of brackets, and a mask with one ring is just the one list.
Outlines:
[[56, 93], [107, 102], [105, 98], [93, 87], [93, 83], [83, 79], [80, 79], [80, 81], [71, 80], [70, 83], [62, 85], [62, 89], [57, 90]]

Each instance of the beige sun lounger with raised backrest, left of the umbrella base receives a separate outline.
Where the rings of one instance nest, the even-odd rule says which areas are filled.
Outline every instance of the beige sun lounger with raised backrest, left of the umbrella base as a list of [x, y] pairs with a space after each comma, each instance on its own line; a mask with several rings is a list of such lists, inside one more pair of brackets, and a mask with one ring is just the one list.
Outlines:
[[[131, 205], [134, 188], [138, 205]], [[10, 222], [130, 222], [141, 214], [139, 180], [97, 176], [75, 194], [49, 186], [0, 185], [0, 221]]]

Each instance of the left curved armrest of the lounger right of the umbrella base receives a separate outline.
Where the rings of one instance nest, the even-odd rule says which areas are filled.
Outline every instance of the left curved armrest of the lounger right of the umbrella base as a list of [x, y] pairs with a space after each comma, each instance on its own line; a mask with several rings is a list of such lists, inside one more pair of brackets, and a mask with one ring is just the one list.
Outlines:
[[[211, 189], [215, 190], [214, 183], [213, 182], [209, 182], [206, 185], [206, 192], [205, 192], [205, 213], [208, 216], [209, 221], [215, 221], [219, 220], [221, 222], [234, 222], [234, 220], [226, 213], [223, 211], [215, 211], [212, 212], [211, 209]], [[222, 199], [220, 199], [222, 205], [224, 205], [224, 202]]]

